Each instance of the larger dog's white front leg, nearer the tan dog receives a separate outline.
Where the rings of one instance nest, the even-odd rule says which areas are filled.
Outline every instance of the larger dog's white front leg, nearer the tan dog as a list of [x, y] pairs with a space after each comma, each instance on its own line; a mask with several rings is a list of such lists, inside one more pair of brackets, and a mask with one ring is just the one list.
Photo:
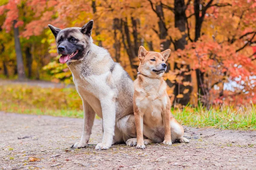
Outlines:
[[[112, 94], [112, 95], [111, 95]], [[113, 142], [116, 119], [116, 96], [109, 93], [100, 99], [102, 107], [103, 138], [102, 143], [96, 145], [95, 150], [109, 149]]]

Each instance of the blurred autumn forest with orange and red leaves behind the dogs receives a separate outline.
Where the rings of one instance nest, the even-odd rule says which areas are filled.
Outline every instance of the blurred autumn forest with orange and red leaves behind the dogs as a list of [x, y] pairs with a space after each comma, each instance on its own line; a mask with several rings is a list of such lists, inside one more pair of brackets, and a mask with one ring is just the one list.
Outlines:
[[72, 83], [47, 25], [91, 19], [94, 43], [132, 79], [140, 45], [172, 50], [164, 78], [175, 106], [256, 103], [256, 0], [0, 0], [0, 77]]

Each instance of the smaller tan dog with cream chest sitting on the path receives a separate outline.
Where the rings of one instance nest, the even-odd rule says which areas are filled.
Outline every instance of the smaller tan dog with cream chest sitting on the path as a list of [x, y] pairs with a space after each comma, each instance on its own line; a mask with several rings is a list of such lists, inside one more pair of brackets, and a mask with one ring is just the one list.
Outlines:
[[[137, 139], [128, 139], [127, 145], [145, 148], [145, 144], [159, 143], [172, 145], [172, 142], [185, 142], [184, 129], [172, 116], [171, 102], [166, 92], [163, 74], [166, 60], [171, 50], [161, 53], [139, 49], [140, 66], [138, 77], [134, 81], [134, 116]], [[147, 139], [143, 139], [143, 136]]]

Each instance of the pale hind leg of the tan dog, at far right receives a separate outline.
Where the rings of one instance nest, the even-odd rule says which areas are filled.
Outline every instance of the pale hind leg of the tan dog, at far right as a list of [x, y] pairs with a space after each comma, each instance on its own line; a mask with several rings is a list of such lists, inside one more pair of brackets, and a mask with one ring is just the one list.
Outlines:
[[184, 138], [184, 129], [183, 127], [176, 121], [174, 117], [171, 118], [171, 134], [172, 134], [172, 142], [181, 142], [181, 143], [189, 143], [189, 140]]

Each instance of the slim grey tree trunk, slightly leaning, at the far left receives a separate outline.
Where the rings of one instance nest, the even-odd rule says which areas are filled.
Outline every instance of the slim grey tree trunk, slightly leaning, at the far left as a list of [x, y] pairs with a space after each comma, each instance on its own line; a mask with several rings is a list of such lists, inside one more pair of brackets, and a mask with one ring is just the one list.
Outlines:
[[26, 75], [25, 75], [22, 52], [20, 47], [19, 28], [15, 27], [16, 23], [17, 23], [17, 20], [14, 20], [13, 29], [14, 29], [14, 40], [15, 40], [15, 52], [16, 52], [16, 59], [17, 59], [17, 73], [18, 73], [18, 79], [24, 80], [26, 79]]

